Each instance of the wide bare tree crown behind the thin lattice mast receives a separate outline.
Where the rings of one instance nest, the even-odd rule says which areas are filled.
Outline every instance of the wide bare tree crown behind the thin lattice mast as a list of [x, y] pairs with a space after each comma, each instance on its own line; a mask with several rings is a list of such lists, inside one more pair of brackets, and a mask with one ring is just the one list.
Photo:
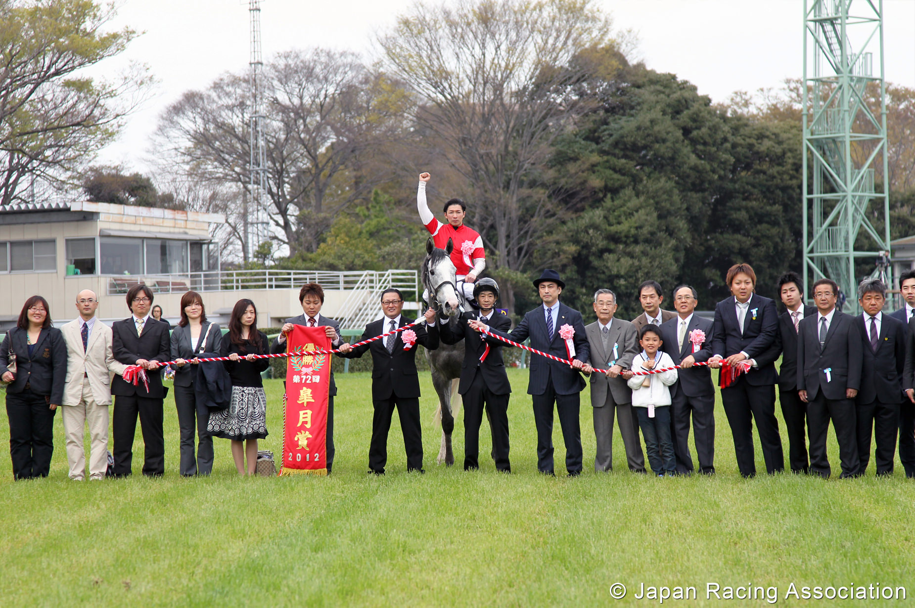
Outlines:
[[[363, 157], [400, 133], [406, 98], [349, 52], [281, 53], [264, 78], [270, 219], [290, 254], [314, 251], [341, 209], [371, 195], [377, 177]], [[160, 165], [247, 194], [247, 87], [245, 77], [227, 75], [169, 107], [155, 138]]]

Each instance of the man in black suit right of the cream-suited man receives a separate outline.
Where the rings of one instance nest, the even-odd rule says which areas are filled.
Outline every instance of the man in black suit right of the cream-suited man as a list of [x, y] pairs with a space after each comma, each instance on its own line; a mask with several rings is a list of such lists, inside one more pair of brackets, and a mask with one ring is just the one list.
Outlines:
[[112, 325], [114, 358], [124, 365], [144, 368], [149, 383], [147, 390], [142, 381], [135, 386], [120, 376], [112, 380], [114, 475], [119, 477], [132, 473], [137, 414], [145, 444], [143, 475], [157, 477], [166, 470], [162, 402], [168, 389], [162, 386], [159, 364], [169, 360], [171, 351], [168, 325], [149, 315], [152, 305], [152, 290], [135, 285], [127, 292], [127, 307], [133, 314]]

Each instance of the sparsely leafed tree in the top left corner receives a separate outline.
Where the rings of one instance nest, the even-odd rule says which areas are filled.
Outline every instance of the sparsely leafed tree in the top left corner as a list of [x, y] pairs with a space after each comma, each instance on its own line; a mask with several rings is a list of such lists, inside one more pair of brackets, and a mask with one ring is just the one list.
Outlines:
[[59, 182], [109, 143], [150, 80], [81, 74], [126, 48], [131, 29], [104, 33], [111, 6], [92, 0], [0, 0], [0, 205], [34, 179]]

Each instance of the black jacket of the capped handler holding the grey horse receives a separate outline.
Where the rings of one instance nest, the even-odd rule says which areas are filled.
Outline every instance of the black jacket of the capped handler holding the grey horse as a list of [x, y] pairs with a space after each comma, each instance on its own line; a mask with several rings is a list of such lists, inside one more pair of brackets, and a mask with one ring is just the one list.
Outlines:
[[[470, 328], [467, 324], [468, 319], [477, 319], [479, 316], [476, 312], [467, 312], [458, 316], [453, 327], [450, 323], [445, 323], [438, 328], [438, 333], [445, 344], [458, 344], [464, 340], [464, 362], [461, 364], [458, 392], [462, 395], [467, 393], [473, 377], [479, 369], [479, 373], [483, 375], [483, 381], [493, 394], [507, 395], [511, 393], [511, 384], [509, 377], [505, 374], [505, 364], [502, 361], [502, 346], [505, 343], [494, 337], [479, 334]], [[504, 312], [493, 311], [488, 325], [493, 329], [506, 332], [511, 329], [511, 319]], [[490, 346], [490, 354], [481, 363], [479, 357], [486, 351], [487, 345]]]

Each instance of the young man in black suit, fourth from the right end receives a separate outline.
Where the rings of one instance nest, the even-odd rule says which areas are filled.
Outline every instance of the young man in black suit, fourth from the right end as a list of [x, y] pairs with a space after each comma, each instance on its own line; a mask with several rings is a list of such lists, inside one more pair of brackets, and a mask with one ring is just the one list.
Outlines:
[[785, 272], [779, 277], [779, 294], [785, 312], [779, 316], [778, 349], [781, 351], [779, 368], [779, 401], [781, 415], [788, 430], [788, 463], [791, 473], [807, 473], [810, 463], [807, 455], [807, 404], [798, 397], [798, 324], [816, 314], [816, 306], [803, 303], [803, 281], [797, 272]]

